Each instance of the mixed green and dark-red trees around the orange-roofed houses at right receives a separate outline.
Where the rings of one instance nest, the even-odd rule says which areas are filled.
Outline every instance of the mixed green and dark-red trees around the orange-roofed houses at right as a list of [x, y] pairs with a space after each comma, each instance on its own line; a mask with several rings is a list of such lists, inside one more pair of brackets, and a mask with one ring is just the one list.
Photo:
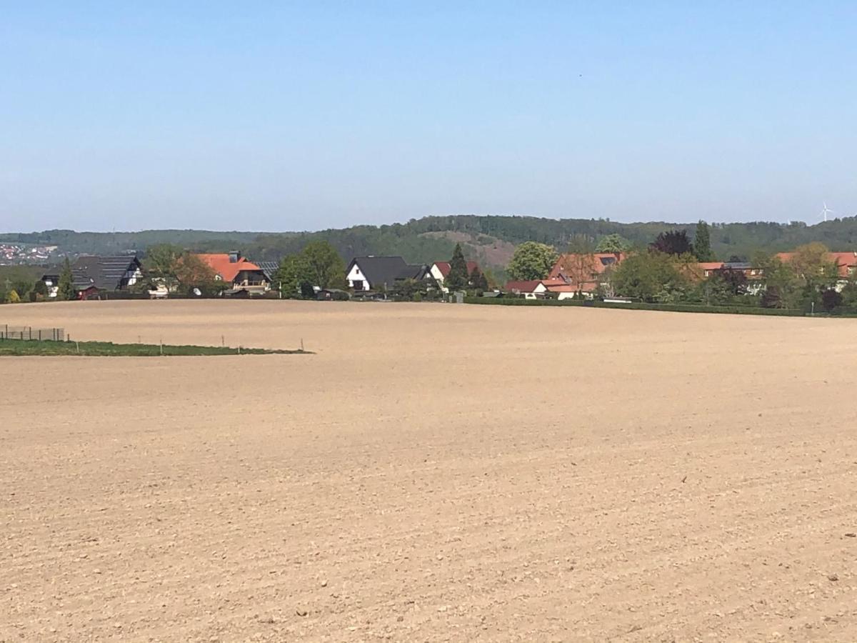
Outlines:
[[[699, 221], [692, 238], [685, 230], [663, 231], [641, 248], [616, 234], [597, 243], [578, 236], [567, 252], [564, 268], [571, 274], [566, 276], [581, 294], [584, 282], [596, 283], [595, 297], [857, 313], [857, 273], [842, 275], [830, 249], [820, 242], [798, 246], [788, 261], [758, 250], [749, 261], [733, 256], [723, 267], [705, 266], [715, 255], [710, 226]], [[615, 254], [621, 261], [596, 274], [596, 253]], [[513, 279], [545, 279], [558, 259], [554, 246], [528, 241], [515, 250], [508, 272]]]

